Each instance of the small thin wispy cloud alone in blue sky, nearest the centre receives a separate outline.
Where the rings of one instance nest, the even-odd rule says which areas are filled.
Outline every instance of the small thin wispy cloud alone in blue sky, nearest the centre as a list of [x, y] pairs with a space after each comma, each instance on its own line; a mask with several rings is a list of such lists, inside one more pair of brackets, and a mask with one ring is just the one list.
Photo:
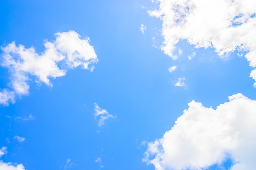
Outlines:
[[95, 119], [99, 117], [99, 122], [98, 122], [98, 126], [103, 126], [105, 124], [105, 121], [108, 118], [116, 118], [116, 116], [113, 116], [112, 114], [109, 114], [108, 111], [106, 111], [105, 109], [101, 109], [97, 103], [94, 103], [94, 116]]

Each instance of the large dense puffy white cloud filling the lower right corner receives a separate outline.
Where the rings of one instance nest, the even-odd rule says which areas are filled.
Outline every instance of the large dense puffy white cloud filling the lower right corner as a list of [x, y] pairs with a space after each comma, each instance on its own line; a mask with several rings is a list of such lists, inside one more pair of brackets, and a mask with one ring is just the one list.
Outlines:
[[231, 158], [231, 170], [254, 170], [256, 100], [229, 96], [216, 110], [191, 101], [170, 131], [148, 143], [144, 161], [156, 170], [200, 170]]

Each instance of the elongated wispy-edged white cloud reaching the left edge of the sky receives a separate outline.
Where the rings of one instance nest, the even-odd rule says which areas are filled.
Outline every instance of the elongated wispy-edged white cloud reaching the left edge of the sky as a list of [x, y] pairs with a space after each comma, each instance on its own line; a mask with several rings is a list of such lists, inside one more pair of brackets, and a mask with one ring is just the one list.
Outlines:
[[89, 38], [81, 39], [75, 31], [56, 33], [55, 37], [55, 41], [45, 41], [45, 51], [41, 54], [33, 47], [16, 46], [15, 42], [2, 47], [0, 64], [9, 70], [12, 91], [3, 89], [0, 92], [0, 104], [13, 103], [16, 95], [28, 95], [29, 76], [35, 76], [36, 82], [52, 86], [49, 78], [65, 76], [68, 69], [81, 66], [93, 70], [89, 65], [97, 63], [98, 59]]

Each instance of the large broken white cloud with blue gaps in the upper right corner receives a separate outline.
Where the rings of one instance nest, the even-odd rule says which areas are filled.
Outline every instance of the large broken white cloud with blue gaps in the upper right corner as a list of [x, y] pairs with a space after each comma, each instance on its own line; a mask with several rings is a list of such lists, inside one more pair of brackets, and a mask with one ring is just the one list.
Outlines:
[[[215, 48], [219, 55], [247, 52], [249, 65], [256, 67], [255, 0], [157, 0], [159, 9], [148, 11], [162, 20], [164, 45], [173, 55], [175, 45], [186, 39], [196, 48]], [[256, 70], [251, 75], [256, 80]], [[256, 86], [256, 83], [254, 83]]]

